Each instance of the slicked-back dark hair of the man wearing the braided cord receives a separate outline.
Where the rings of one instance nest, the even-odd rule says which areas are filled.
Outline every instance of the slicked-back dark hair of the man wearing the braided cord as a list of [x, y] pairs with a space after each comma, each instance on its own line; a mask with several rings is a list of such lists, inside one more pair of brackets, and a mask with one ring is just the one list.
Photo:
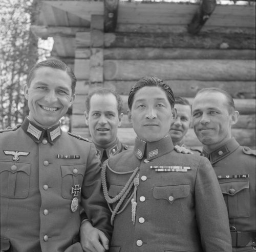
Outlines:
[[143, 87], [160, 87], [166, 94], [167, 99], [170, 103], [170, 107], [173, 109], [175, 105], [175, 97], [172, 88], [168, 84], [164, 83], [157, 77], [143, 77], [140, 79], [131, 89], [128, 96], [128, 107], [131, 110], [134, 100], [135, 93]]

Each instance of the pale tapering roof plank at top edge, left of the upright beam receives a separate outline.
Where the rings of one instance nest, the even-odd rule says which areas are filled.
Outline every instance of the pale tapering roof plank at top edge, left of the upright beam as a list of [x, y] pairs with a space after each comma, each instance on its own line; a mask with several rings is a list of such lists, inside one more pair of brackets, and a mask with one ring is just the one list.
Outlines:
[[91, 15], [103, 15], [103, 2], [95, 1], [43, 1], [57, 9], [70, 12], [82, 19], [91, 20]]

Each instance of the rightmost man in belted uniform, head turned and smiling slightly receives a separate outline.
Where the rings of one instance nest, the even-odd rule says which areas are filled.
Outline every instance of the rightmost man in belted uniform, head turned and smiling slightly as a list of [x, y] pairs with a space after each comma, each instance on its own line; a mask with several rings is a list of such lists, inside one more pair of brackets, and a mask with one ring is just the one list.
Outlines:
[[256, 250], [255, 150], [231, 135], [239, 112], [229, 93], [200, 90], [193, 102], [193, 127], [216, 172], [229, 215], [233, 252]]

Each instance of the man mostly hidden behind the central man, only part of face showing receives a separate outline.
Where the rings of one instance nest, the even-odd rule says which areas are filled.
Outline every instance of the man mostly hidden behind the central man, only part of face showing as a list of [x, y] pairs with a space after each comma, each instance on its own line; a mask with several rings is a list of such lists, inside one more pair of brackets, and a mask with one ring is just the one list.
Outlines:
[[201, 154], [202, 149], [200, 147], [188, 147], [184, 143], [184, 137], [187, 134], [187, 131], [191, 124], [191, 105], [188, 100], [176, 96], [175, 97], [175, 106], [177, 110], [177, 116], [174, 118], [170, 124], [170, 137], [172, 138], [173, 144], [186, 149], [191, 150], [191, 154]]

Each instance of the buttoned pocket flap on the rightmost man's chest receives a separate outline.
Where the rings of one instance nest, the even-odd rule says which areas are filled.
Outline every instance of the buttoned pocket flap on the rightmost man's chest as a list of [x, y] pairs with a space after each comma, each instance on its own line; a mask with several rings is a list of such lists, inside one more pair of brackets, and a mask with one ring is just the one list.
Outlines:
[[223, 194], [230, 196], [236, 195], [238, 192], [249, 188], [249, 180], [246, 181], [228, 181], [220, 183], [221, 191]]

